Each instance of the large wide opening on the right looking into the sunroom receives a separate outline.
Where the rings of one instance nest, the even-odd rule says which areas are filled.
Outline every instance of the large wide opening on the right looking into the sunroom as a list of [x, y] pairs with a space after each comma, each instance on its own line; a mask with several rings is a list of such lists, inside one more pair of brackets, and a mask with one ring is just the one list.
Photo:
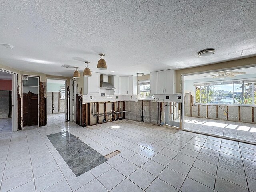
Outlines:
[[256, 67], [182, 75], [183, 129], [256, 144]]

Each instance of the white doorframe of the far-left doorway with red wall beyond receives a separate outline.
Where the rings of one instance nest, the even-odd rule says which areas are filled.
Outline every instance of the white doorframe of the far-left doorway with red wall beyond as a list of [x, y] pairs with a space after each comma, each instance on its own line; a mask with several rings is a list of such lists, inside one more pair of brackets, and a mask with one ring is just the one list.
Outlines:
[[18, 73], [0, 68], [0, 71], [12, 74], [12, 131], [18, 131]]

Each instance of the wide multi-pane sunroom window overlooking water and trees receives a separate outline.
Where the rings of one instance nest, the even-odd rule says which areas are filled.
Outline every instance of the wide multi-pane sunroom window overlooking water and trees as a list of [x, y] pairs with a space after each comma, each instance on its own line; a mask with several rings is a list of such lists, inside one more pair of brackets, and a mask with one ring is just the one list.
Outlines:
[[256, 105], [256, 80], [195, 83], [195, 102]]

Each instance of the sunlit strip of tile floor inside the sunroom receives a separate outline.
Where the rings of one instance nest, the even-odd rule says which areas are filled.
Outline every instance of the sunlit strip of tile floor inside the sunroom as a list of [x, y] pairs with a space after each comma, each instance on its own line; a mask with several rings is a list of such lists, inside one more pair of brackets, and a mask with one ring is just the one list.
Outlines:
[[256, 124], [185, 117], [185, 129], [256, 143]]

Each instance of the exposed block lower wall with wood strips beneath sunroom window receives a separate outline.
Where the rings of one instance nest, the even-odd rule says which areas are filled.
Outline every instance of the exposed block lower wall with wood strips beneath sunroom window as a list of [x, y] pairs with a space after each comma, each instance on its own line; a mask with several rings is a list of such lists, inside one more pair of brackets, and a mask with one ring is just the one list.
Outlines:
[[[190, 93], [185, 94], [185, 116], [207, 118], [207, 106], [206, 105], [192, 105], [190, 115]], [[199, 115], [198, 115], [199, 108]], [[239, 120], [240, 110], [240, 120]], [[224, 111], [228, 111], [228, 116]], [[254, 111], [254, 118], [252, 122], [252, 111]], [[217, 105], [208, 105], [208, 118], [218, 120], [228, 120], [235, 122], [255, 123], [256, 124], [256, 107], [254, 106], [234, 106], [234, 105], [218, 105], [218, 118], [217, 118]]]

